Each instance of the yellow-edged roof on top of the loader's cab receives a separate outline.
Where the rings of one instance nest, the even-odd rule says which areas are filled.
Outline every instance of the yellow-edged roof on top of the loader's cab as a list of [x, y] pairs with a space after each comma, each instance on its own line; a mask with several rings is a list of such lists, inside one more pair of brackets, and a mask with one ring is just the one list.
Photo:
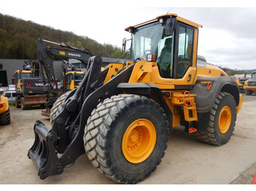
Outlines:
[[159, 20], [159, 19], [162, 18], [162, 17], [170, 17], [170, 16], [176, 17], [176, 19], [177, 19], [178, 21], [180, 21], [181, 23], [186, 23], [186, 24], [189, 25], [189, 26], [194, 26], [195, 28], [203, 27], [203, 25], [194, 23], [194, 22], [192, 22], [192, 21], [190, 21], [190, 20], [187, 20], [187, 19], [185, 19], [185, 18], [183, 18], [183, 17], [178, 17], [177, 14], [174, 14], [174, 13], [167, 13], [167, 14], [165, 14], [165, 15], [159, 15], [157, 18], [155, 18], [155, 19], [153, 19], [153, 20], [148, 20], [148, 21], [145, 22], [145, 23], [141, 23], [141, 24], [138, 24], [138, 25], [136, 25], [136, 26], [129, 26], [129, 27], [125, 28], [125, 31], [129, 31], [129, 28], [138, 28], [138, 27], [140, 27], [140, 26], [145, 26], [145, 25], [147, 25], [147, 24], [149, 24], [149, 23], [154, 23], [154, 22], [156, 22], [157, 20]]

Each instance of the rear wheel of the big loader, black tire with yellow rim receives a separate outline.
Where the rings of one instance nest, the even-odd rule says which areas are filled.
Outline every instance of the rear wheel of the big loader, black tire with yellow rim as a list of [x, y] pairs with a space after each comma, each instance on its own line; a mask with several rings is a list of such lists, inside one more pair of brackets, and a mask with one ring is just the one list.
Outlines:
[[220, 92], [211, 109], [207, 132], [193, 135], [207, 144], [220, 146], [230, 140], [236, 125], [236, 101], [230, 93]]

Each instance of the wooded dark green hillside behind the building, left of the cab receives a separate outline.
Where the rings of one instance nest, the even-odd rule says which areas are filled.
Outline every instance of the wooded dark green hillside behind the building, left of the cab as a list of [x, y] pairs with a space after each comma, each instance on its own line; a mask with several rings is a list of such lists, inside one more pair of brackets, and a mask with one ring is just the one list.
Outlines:
[[86, 48], [93, 55], [121, 57], [121, 50], [111, 44], [99, 44], [86, 36], [78, 36], [69, 31], [56, 30], [0, 14], [0, 58], [36, 59], [37, 39], [39, 38]]

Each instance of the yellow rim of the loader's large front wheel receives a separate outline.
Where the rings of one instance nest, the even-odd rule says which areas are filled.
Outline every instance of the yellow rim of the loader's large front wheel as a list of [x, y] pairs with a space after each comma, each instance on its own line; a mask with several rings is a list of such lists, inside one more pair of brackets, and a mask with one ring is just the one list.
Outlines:
[[124, 133], [122, 151], [130, 163], [141, 163], [154, 149], [157, 132], [152, 122], [139, 119], [132, 122]]

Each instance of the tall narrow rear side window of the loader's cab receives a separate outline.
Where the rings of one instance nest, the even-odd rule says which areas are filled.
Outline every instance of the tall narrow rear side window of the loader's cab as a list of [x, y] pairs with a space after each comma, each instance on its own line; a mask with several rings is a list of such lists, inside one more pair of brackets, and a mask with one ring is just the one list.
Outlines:
[[182, 78], [189, 66], [192, 66], [193, 38], [194, 28], [179, 26], [177, 78]]

